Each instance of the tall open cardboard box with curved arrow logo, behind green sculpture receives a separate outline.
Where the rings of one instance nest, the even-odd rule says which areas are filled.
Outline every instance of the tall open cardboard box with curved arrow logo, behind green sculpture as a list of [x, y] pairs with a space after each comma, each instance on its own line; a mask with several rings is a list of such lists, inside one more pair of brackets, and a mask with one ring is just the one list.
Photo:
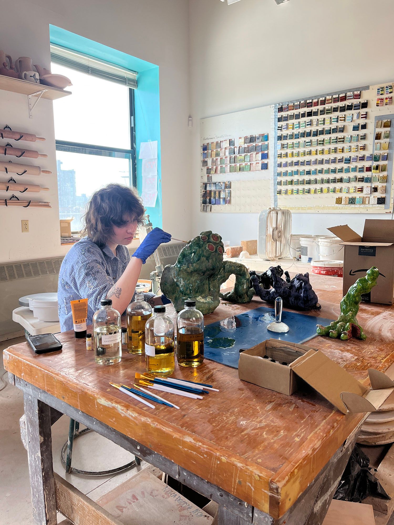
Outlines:
[[362, 296], [363, 302], [392, 304], [394, 291], [394, 221], [366, 219], [360, 237], [348, 225], [327, 228], [343, 240], [344, 288], [347, 293], [359, 277], [372, 266], [379, 269], [377, 285]]

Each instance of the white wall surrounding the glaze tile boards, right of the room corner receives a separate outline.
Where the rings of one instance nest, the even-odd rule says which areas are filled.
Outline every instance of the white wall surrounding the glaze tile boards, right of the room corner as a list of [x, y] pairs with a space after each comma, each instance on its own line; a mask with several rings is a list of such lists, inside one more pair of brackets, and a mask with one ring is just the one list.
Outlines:
[[[257, 214], [200, 212], [201, 118], [392, 80], [387, 44], [392, 0], [190, 0], [193, 234], [231, 243], [256, 238]], [[272, 162], [272, 158], [270, 160]], [[293, 213], [293, 233], [349, 224], [362, 233], [372, 214]]]

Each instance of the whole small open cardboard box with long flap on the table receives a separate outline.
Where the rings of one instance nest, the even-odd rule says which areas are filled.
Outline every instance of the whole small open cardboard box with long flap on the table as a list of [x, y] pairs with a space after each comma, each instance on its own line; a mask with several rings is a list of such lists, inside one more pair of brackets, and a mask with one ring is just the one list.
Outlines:
[[243, 381], [286, 395], [301, 388], [302, 379], [344, 414], [374, 412], [394, 392], [394, 382], [378, 370], [368, 370], [371, 388], [367, 388], [323, 352], [276, 339], [242, 351], [238, 373]]

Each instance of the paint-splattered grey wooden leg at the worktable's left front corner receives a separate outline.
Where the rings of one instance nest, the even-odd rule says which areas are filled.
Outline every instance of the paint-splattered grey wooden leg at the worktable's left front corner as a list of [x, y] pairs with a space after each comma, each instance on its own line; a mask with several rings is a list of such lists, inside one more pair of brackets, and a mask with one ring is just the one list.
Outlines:
[[56, 525], [50, 407], [24, 394], [33, 525]]

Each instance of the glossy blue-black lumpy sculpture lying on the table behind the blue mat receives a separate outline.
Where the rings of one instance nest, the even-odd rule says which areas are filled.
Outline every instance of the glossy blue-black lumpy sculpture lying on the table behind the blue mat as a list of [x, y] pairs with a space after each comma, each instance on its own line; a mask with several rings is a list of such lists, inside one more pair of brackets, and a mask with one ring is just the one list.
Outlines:
[[260, 299], [273, 303], [277, 297], [282, 297], [283, 306], [294, 310], [320, 310], [322, 308], [309, 282], [309, 274], [297, 274], [292, 280], [284, 281], [281, 278], [281, 272], [274, 266], [269, 268], [269, 272], [273, 288], [268, 290], [260, 285], [257, 275], [251, 272], [252, 285]]

